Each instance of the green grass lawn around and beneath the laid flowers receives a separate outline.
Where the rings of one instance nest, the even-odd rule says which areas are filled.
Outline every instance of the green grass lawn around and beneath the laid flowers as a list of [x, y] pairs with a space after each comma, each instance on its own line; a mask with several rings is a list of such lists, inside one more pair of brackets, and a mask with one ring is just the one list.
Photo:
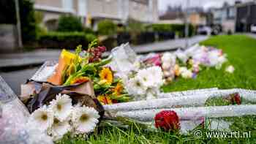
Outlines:
[[[227, 53], [229, 62], [221, 70], [205, 69], [196, 79], [178, 79], [162, 89], [168, 91], [184, 91], [196, 88], [250, 88], [256, 89], [256, 39], [244, 35], [217, 36], [201, 42], [202, 45], [211, 45], [221, 48]], [[225, 72], [225, 67], [232, 64], [235, 67], [233, 74]], [[60, 143], [256, 143], [256, 122], [254, 116], [234, 118], [232, 131], [249, 132], [250, 138], [201, 138], [194, 137], [193, 132], [188, 135], [172, 132], [148, 132], [136, 125], [129, 129], [120, 129], [108, 126], [98, 129], [84, 141], [82, 138], [69, 139], [66, 137]], [[206, 132], [206, 129], [200, 129]]]

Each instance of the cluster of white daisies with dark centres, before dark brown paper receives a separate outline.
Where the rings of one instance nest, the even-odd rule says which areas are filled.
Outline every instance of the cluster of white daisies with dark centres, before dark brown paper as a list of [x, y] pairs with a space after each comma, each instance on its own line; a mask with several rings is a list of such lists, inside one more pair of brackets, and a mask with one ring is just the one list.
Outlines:
[[66, 94], [58, 94], [50, 105], [42, 106], [31, 113], [29, 125], [39, 127], [53, 138], [61, 139], [64, 134], [89, 134], [99, 122], [99, 113], [93, 107], [77, 104]]

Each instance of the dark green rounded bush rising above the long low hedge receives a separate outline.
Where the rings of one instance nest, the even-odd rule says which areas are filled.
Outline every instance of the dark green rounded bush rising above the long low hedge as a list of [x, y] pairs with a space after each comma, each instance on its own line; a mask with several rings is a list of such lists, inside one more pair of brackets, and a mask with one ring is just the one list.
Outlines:
[[59, 18], [58, 31], [83, 31], [83, 24], [78, 17], [72, 15], [62, 15]]

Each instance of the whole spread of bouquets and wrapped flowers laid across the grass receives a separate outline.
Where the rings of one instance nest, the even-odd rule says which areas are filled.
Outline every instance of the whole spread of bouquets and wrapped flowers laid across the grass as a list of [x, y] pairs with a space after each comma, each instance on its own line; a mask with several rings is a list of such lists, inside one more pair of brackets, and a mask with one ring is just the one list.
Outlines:
[[[40, 131], [59, 140], [65, 134], [87, 135], [100, 121], [124, 125], [133, 121], [150, 130], [186, 133], [206, 124], [208, 118], [256, 114], [255, 91], [160, 92], [164, 83], [178, 77], [195, 77], [204, 67], [221, 68], [227, 61], [222, 50], [195, 45], [175, 53], [138, 56], [126, 44], [105, 59], [104, 51], [97, 41], [87, 50], [81, 46], [75, 53], [63, 50], [59, 63], [47, 66], [54, 69], [50, 75], [23, 85], [20, 99], [31, 113], [29, 124], [41, 126]], [[226, 68], [233, 71], [232, 66]], [[226, 121], [214, 123], [230, 126]]]

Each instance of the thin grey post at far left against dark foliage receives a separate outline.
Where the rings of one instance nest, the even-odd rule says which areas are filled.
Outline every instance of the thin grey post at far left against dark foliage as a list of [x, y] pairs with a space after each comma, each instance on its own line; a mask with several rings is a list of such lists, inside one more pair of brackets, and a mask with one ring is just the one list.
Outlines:
[[22, 37], [21, 37], [21, 28], [20, 28], [20, 9], [19, 9], [19, 0], [15, 0], [15, 11], [16, 11], [16, 26], [18, 31], [18, 47], [22, 48]]

